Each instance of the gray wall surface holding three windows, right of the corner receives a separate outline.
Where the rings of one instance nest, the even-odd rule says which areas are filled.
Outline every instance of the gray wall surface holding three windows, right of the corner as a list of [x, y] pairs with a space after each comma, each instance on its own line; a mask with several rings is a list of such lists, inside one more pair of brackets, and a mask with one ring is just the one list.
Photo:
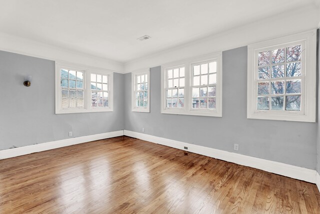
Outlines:
[[124, 129], [316, 169], [317, 123], [246, 119], [247, 48], [223, 52], [222, 118], [160, 113], [160, 67], [150, 69], [150, 113], [131, 112], [125, 74]]

